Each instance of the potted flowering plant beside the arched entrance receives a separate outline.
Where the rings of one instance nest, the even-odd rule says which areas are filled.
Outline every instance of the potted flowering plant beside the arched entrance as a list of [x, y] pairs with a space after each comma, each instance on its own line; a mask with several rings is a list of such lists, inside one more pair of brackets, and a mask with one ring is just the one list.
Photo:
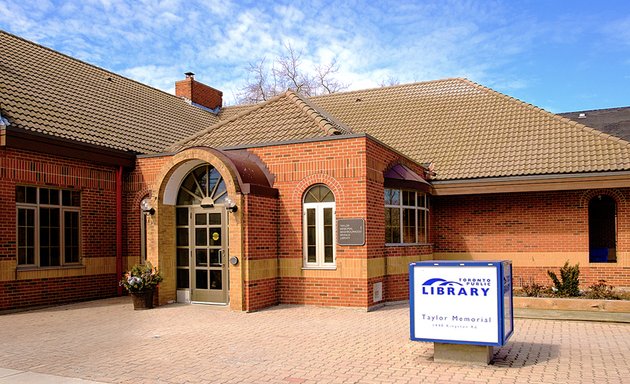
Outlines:
[[131, 294], [133, 309], [153, 308], [153, 291], [162, 281], [162, 274], [150, 262], [136, 264], [125, 272], [120, 285]]

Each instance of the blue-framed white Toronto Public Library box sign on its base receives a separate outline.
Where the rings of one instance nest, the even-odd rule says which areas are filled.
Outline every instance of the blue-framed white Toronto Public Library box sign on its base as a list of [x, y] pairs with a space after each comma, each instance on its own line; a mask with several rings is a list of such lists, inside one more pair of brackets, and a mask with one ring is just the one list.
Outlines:
[[511, 261], [411, 263], [409, 294], [411, 340], [436, 361], [488, 364], [513, 333]]

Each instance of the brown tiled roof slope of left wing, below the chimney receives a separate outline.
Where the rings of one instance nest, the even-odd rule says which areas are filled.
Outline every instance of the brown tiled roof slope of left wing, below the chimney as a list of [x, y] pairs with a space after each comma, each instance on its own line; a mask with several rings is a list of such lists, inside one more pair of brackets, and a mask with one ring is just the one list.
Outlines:
[[0, 108], [14, 128], [154, 153], [219, 121], [184, 100], [0, 31]]

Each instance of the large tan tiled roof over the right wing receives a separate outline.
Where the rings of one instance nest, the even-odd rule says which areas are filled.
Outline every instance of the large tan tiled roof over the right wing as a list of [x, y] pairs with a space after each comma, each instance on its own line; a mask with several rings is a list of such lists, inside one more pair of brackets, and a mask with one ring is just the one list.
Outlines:
[[630, 169], [630, 143], [466, 79], [310, 101], [356, 133], [435, 163], [436, 180]]

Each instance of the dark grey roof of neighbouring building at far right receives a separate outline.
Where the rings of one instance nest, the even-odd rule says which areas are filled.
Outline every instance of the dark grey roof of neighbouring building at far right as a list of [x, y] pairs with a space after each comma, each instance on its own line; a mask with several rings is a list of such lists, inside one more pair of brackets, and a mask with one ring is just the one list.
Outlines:
[[630, 141], [630, 107], [559, 113], [598, 131]]

